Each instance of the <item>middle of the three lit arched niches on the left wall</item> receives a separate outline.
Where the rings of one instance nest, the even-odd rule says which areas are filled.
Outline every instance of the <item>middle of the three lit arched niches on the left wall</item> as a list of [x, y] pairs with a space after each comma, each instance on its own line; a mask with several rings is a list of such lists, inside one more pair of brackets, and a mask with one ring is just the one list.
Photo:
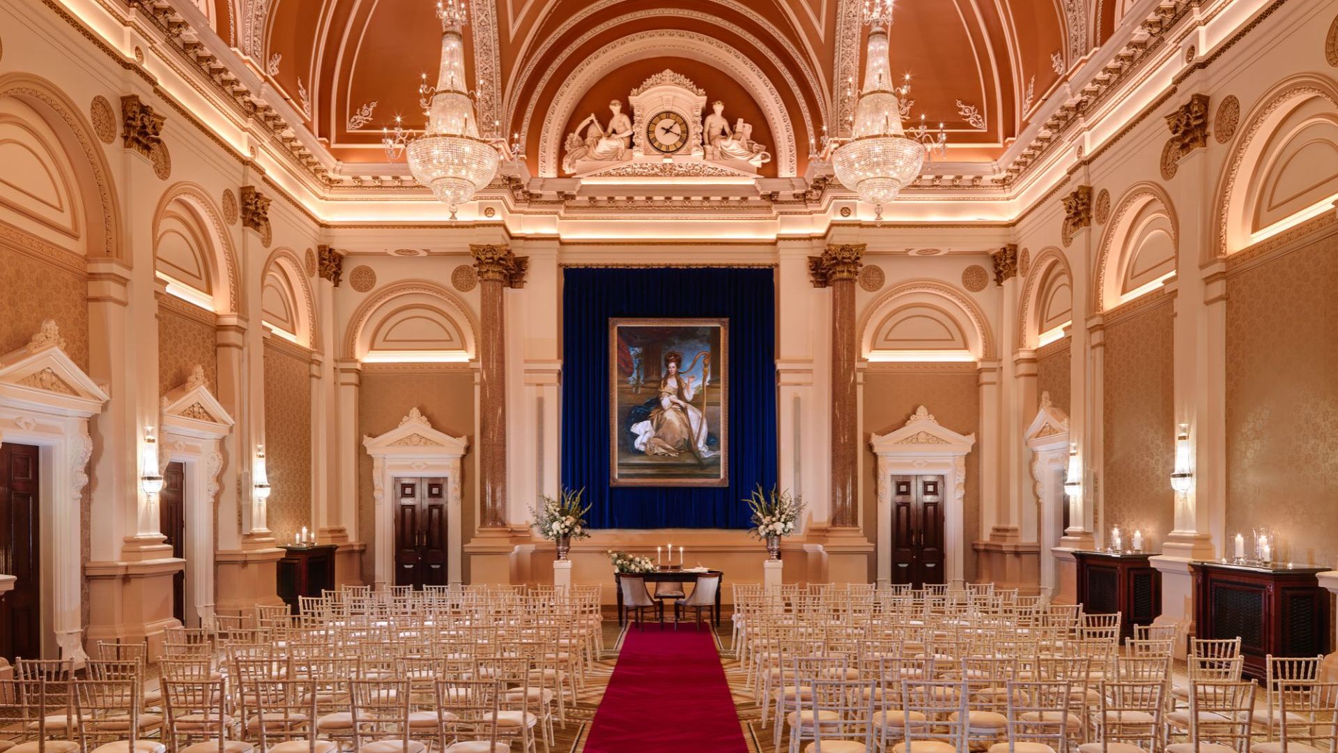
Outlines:
[[215, 314], [240, 311], [237, 253], [203, 188], [181, 182], [163, 192], [154, 213], [154, 264], [167, 292]]

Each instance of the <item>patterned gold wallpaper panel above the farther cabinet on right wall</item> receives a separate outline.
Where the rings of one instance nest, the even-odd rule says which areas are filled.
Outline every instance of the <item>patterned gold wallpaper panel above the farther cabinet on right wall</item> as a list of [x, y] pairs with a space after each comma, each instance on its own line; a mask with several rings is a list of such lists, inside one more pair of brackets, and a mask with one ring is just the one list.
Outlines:
[[1105, 328], [1103, 531], [1141, 529], [1161, 551], [1175, 528], [1173, 310], [1169, 299]]

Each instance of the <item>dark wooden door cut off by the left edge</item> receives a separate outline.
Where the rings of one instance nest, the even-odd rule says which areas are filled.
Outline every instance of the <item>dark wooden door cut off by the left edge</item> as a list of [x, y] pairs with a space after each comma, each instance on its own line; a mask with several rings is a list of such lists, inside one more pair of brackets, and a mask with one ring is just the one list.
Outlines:
[[41, 658], [39, 449], [0, 445], [0, 572], [17, 577], [0, 596], [0, 657]]

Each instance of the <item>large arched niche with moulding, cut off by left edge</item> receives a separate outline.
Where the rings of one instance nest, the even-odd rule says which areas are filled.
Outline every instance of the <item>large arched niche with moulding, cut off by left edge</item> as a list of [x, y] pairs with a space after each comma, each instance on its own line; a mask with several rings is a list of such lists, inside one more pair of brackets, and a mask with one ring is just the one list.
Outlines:
[[128, 261], [107, 157], [83, 111], [40, 76], [0, 75], [0, 234]]

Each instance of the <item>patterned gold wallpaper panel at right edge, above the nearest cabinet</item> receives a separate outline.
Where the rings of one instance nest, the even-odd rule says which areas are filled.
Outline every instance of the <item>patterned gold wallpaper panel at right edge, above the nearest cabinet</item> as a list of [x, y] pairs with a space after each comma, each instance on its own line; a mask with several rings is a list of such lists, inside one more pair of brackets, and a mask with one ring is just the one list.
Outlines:
[[1338, 565], [1338, 237], [1227, 279], [1227, 536]]

